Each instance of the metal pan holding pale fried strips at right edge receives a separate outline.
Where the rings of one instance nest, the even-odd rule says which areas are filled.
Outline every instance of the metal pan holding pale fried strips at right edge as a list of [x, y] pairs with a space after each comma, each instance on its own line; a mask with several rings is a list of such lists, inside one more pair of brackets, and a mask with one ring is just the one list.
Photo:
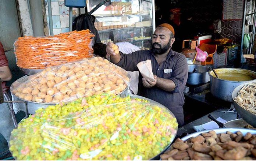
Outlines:
[[[252, 82], [250, 82], [252, 83]], [[235, 110], [237, 111], [238, 115], [245, 120], [247, 123], [249, 123], [251, 126], [256, 127], [256, 115], [253, 115], [246, 109], [242, 108], [240, 105], [235, 102], [234, 98], [238, 96], [238, 92], [240, 89], [242, 89], [243, 86], [248, 85], [250, 83], [244, 83], [242, 85], [237, 86], [234, 91], [232, 92], [232, 100], [235, 107]]]

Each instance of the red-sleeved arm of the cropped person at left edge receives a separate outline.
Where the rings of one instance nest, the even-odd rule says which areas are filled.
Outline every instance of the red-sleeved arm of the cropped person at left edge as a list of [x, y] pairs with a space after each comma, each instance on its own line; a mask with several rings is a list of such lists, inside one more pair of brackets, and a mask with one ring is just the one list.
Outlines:
[[4, 53], [4, 47], [0, 42], [0, 78], [2, 81], [10, 81], [12, 78], [8, 60]]

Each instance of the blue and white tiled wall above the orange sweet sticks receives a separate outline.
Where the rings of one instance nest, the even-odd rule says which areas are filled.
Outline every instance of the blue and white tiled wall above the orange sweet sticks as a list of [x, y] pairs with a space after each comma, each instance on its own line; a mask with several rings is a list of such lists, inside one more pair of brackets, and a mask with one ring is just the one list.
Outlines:
[[[48, 2], [45, 0], [47, 23], [49, 28]], [[53, 15], [53, 34], [68, 32], [69, 8], [64, 5], [64, 0], [51, 0], [51, 12]], [[80, 14], [79, 8], [73, 8], [73, 20]], [[49, 30], [50, 33], [50, 30]]]

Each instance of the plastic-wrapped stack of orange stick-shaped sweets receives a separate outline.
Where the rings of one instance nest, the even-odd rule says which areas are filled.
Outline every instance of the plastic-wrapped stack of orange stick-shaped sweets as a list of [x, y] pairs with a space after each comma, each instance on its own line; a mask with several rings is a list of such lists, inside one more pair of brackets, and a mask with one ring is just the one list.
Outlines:
[[17, 65], [25, 69], [45, 69], [92, 57], [93, 37], [89, 30], [47, 37], [19, 37], [14, 43]]

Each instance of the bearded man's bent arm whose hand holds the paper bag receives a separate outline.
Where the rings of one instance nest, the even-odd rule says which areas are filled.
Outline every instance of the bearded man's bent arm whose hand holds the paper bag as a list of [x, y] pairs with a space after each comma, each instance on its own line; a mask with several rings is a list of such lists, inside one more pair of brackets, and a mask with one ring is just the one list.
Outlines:
[[179, 93], [180, 90], [184, 90], [188, 79], [188, 64], [186, 59], [183, 57], [177, 61], [170, 79], [159, 78], [156, 75], [154, 75], [154, 79], [155, 81], [150, 81], [143, 78], [143, 86], [147, 88], [156, 86], [171, 93]]

